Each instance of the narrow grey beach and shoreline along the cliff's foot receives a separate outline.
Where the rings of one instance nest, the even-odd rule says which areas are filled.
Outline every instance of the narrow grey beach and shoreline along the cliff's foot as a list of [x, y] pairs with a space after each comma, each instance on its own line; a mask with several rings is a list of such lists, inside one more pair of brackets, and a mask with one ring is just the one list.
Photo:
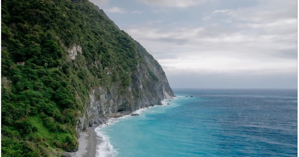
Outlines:
[[[172, 97], [170, 99], [174, 99], [175, 97]], [[166, 100], [170, 100], [170, 99], [164, 99], [163, 101], [161, 101], [161, 106], [162, 105], [167, 105], [165, 103]], [[160, 106], [160, 105], [154, 105], [154, 106]], [[149, 106], [149, 107], [153, 107], [153, 106]], [[145, 107], [145, 108], [141, 108], [138, 110], [143, 110], [143, 109], [147, 109], [149, 107]], [[126, 115], [131, 115], [133, 113], [135, 113], [135, 110], [133, 112], [124, 112], [124, 113], [117, 113], [114, 114], [111, 117], [108, 117], [105, 122], [97, 127], [92, 127], [92, 128], [88, 128], [85, 132], [81, 132], [79, 133], [79, 146], [78, 146], [78, 151], [71, 153], [72, 157], [96, 157], [96, 153], [97, 153], [97, 146], [100, 144], [104, 143], [104, 140], [102, 139], [103, 137], [100, 137], [97, 135], [95, 129], [104, 125], [108, 125], [107, 122], [109, 122], [110, 119], [112, 118], [120, 118]]]

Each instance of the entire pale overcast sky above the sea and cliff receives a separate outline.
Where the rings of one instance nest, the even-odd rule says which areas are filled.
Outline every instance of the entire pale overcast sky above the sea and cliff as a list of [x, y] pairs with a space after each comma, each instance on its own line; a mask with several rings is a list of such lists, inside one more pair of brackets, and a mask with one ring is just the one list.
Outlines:
[[171, 88], [297, 88], [297, 0], [90, 0]]

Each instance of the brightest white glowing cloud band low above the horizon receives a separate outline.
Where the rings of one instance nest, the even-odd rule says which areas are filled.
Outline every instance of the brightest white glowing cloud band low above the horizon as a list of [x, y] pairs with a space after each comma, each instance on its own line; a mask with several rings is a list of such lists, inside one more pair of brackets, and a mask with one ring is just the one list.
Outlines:
[[190, 73], [201, 74], [250, 74], [250, 75], [269, 75], [276, 73], [295, 73], [297, 67], [294, 61], [285, 59], [261, 59], [241, 58], [231, 56], [213, 56], [204, 57], [192, 55], [186, 58], [159, 59], [163, 69], [169, 73], [177, 71], [189, 71]]

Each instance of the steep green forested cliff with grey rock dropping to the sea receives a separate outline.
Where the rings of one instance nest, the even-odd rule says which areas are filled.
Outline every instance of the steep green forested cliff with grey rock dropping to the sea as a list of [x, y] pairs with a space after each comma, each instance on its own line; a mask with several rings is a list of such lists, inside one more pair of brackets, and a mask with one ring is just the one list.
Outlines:
[[158, 62], [88, 0], [1, 4], [2, 157], [75, 151], [78, 132], [174, 96]]

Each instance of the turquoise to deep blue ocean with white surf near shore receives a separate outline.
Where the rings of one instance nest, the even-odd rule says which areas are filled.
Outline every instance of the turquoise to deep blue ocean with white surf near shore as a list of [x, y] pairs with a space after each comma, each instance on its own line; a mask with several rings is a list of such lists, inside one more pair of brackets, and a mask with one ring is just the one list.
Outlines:
[[97, 157], [297, 157], [297, 89], [174, 93], [96, 128]]

